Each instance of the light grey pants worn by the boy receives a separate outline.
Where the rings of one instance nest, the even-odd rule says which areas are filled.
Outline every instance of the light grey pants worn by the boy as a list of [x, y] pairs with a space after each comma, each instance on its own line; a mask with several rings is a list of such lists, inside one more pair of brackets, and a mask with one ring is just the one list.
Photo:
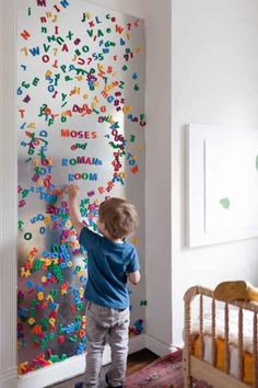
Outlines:
[[112, 365], [108, 383], [120, 386], [126, 377], [128, 354], [129, 308], [115, 310], [87, 303], [86, 306], [86, 373], [85, 386], [98, 387], [102, 355], [108, 334], [112, 347]]

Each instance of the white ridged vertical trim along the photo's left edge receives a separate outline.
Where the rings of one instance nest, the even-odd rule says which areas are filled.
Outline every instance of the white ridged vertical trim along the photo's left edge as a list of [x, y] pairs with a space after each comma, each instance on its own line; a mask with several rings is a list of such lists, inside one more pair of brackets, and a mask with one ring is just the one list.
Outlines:
[[0, 0], [0, 388], [16, 376], [16, 2]]

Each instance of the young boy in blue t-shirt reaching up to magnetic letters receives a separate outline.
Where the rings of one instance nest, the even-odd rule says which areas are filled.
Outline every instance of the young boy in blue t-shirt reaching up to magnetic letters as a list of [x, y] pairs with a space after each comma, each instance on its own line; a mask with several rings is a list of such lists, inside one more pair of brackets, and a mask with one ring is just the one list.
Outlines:
[[139, 226], [139, 217], [133, 205], [121, 198], [109, 198], [99, 206], [97, 226], [103, 235], [99, 236], [82, 222], [78, 193], [77, 185], [69, 186], [71, 221], [80, 244], [87, 251], [87, 355], [85, 383], [78, 383], [75, 388], [98, 387], [107, 334], [112, 347], [112, 365], [106, 374], [106, 383], [108, 387], [122, 387], [129, 329], [127, 279], [134, 285], [140, 281], [137, 251], [124, 239]]

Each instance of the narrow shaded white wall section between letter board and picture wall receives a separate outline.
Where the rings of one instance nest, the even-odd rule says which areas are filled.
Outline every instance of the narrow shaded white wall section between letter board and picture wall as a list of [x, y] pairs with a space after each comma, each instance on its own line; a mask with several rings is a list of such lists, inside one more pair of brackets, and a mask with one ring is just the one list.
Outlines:
[[171, 1], [145, 0], [146, 345], [172, 350]]

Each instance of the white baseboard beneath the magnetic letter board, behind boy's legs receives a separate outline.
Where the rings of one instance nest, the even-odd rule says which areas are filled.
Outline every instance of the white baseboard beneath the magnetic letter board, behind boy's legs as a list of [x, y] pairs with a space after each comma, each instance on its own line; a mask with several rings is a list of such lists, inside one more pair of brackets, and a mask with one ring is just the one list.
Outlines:
[[[133, 336], [129, 340], [129, 354], [136, 353], [145, 347], [145, 334]], [[110, 363], [110, 347], [105, 346], [103, 354], [103, 365]], [[68, 360], [56, 363], [51, 366], [28, 373], [19, 377], [17, 388], [45, 388], [52, 384], [68, 380], [85, 370], [85, 355], [69, 357]], [[15, 370], [16, 373], [16, 370]], [[16, 375], [15, 375], [16, 384]], [[14, 386], [0, 386], [0, 388], [15, 388]]]

